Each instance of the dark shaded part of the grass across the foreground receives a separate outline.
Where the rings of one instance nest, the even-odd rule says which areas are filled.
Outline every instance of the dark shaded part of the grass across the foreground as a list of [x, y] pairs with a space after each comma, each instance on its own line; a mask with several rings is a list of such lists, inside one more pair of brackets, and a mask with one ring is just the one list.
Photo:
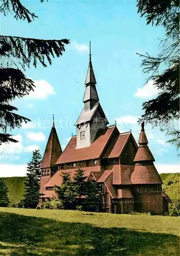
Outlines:
[[1, 255], [179, 255], [178, 249], [172, 234], [0, 212]]

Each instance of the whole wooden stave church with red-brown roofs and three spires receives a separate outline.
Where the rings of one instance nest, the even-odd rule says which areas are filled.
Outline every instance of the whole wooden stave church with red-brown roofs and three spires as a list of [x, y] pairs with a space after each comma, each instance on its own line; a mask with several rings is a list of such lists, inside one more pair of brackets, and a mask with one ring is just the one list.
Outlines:
[[91, 53], [83, 102], [84, 109], [75, 123], [77, 135], [71, 137], [63, 152], [53, 121], [41, 162], [40, 204], [57, 198], [54, 187], [62, 184], [62, 172], [73, 177], [81, 167], [85, 176], [93, 178], [104, 191], [106, 212], [167, 215], [171, 200], [162, 191], [144, 123], [139, 146], [131, 132], [120, 133], [116, 125], [108, 126], [99, 103]]

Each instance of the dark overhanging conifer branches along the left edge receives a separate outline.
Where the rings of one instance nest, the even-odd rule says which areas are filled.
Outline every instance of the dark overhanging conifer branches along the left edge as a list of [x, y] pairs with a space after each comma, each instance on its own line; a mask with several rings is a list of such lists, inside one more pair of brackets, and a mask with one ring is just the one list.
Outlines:
[[[27, 20], [28, 23], [38, 18], [25, 8], [20, 0], [2, 0], [0, 13], [5, 16], [14, 13], [15, 19]], [[0, 144], [17, 142], [11, 138], [7, 130], [19, 128], [23, 122], [31, 121], [27, 117], [14, 113], [18, 109], [11, 104], [15, 98], [29, 95], [34, 90], [34, 82], [25, 77], [20, 69], [25, 71], [31, 66], [36, 68], [38, 62], [43, 67], [47, 67], [47, 63], [51, 65], [52, 58], [60, 57], [67, 44], [69, 44], [68, 39], [44, 40], [0, 35], [0, 129], [3, 131], [0, 133]]]

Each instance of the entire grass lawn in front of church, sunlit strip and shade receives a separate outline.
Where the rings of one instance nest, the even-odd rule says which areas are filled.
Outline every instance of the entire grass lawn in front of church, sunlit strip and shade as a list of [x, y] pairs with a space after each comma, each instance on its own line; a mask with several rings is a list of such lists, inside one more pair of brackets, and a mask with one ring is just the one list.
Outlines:
[[179, 255], [179, 218], [0, 208], [0, 255]]

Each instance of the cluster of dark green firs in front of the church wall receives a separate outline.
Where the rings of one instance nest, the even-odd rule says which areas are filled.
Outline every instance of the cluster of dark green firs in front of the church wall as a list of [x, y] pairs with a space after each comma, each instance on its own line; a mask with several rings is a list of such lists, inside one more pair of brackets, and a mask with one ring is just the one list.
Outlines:
[[88, 179], [81, 168], [71, 178], [63, 173], [63, 184], [56, 186], [55, 191], [64, 209], [82, 209], [86, 211], [102, 210], [102, 195], [99, 186], [93, 179]]

